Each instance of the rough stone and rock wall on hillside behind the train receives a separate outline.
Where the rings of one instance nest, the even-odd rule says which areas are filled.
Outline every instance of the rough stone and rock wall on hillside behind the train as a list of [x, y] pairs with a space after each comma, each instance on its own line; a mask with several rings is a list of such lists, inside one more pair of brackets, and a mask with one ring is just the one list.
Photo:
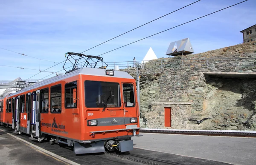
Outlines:
[[[136, 78], [136, 68], [129, 68], [128, 71]], [[231, 126], [236, 126], [228, 129], [256, 129], [255, 111], [248, 107], [255, 105], [255, 99], [250, 98], [246, 104], [250, 106], [244, 107], [236, 105], [237, 111], [245, 109], [248, 113], [243, 120], [235, 119], [231, 114], [230, 118], [225, 115], [221, 117], [219, 124], [216, 124], [215, 110], [212, 107], [213, 99], [209, 97], [216, 91], [227, 91], [225, 88], [217, 88], [218, 83], [226, 80], [216, 80], [215, 90], [210, 91], [211, 80], [206, 79], [205, 72], [236, 72], [236, 73], [253, 73], [256, 72], [256, 43], [244, 43], [237, 46], [221, 48], [214, 51], [208, 51], [201, 54], [190, 54], [188, 56], [176, 56], [173, 58], [161, 58], [151, 60], [140, 67], [140, 110], [141, 110], [141, 125], [145, 128], [164, 128], [163, 125], [163, 108], [155, 108], [152, 102], [190, 102], [189, 107], [181, 107], [181, 111], [176, 108], [172, 111], [172, 121], [178, 124], [172, 124], [172, 128], [177, 129], [227, 129]], [[225, 79], [225, 78], [224, 78]], [[248, 82], [244, 82], [246, 84]], [[223, 84], [223, 83], [222, 83]], [[241, 87], [236, 81], [234, 86]], [[237, 100], [246, 95], [244, 91], [237, 89], [240, 95]], [[255, 89], [248, 89], [251, 95], [255, 95]], [[221, 92], [220, 92], [221, 93]], [[218, 93], [218, 94], [220, 94]], [[234, 93], [234, 92], [233, 92]], [[219, 96], [219, 95], [218, 95]], [[214, 97], [214, 98], [217, 98]], [[221, 100], [225, 100], [222, 97]], [[235, 100], [234, 102], [236, 102]], [[247, 99], [248, 100], [248, 99]], [[226, 100], [229, 102], [230, 100]], [[223, 102], [226, 102], [223, 101]], [[232, 101], [233, 102], [233, 101]], [[177, 104], [179, 105], [179, 104]], [[177, 106], [174, 105], [174, 106]], [[159, 105], [160, 106], [160, 105]], [[231, 106], [231, 105], [230, 105]], [[234, 105], [232, 105], [234, 106]], [[182, 112], [186, 111], [186, 114]], [[221, 110], [220, 110], [221, 111]], [[225, 110], [226, 111], [226, 110]], [[229, 110], [227, 110], [229, 111]], [[212, 112], [212, 113], [211, 113]], [[250, 112], [250, 113], [249, 113]], [[159, 114], [160, 113], [160, 114]], [[226, 112], [223, 112], [226, 113]], [[233, 112], [236, 118], [241, 115]], [[221, 114], [221, 113], [220, 113]], [[229, 113], [226, 113], [229, 114]], [[154, 117], [154, 119], [152, 118]], [[202, 120], [197, 124], [197, 120]], [[234, 124], [223, 124], [224, 120], [234, 121]], [[245, 121], [244, 121], [245, 120]], [[242, 122], [242, 124], [240, 124]], [[155, 124], [159, 123], [159, 124]], [[182, 124], [183, 123], [183, 124]], [[222, 123], [222, 126], [220, 126]], [[161, 125], [160, 125], [161, 124]], [[215, 126], [215, 127], [214, 127]]]

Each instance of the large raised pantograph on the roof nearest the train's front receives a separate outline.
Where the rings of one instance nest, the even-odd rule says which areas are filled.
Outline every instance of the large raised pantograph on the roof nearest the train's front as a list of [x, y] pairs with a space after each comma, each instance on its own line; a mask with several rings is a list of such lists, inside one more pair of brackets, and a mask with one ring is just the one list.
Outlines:
[[[79, 65], [81, 64], [81, 68], [87, 68], [87, 67], [90, 67], [90, 68], [95, 68], [96, 65], [98, 63], [103, 63], [106, 65], [106, 66], [102, 66], [102, 67], [99, 67], [99, 68], [107, 68], [108, 64], [106, 64], [104, 61], [103, 61], [103, 58], [102, 57], [99, 57], [99, 56], [91, 56], [91, 55], [85, 55], [85, 54], [81, 54], [81, 53], [74, 53], [74, 52], [67, 52], [65, 54], [65, 57], [67, 57], [64, 65], [63, 65], [63, 69], [66, 71], [66, 74], [71, 72], [71, 71], [75, 71], [77, 69], [79, 69]], [[84, 60], [82, 61], [81, 63], [79, 63], [80, 60]], [[71, 68], [70, 70], [66, 70], [67, 68], [65, 68], [65, 64], [67, 63], [67, 61], [69, 61], [72, 65], [67, 67], [67, 68]]]

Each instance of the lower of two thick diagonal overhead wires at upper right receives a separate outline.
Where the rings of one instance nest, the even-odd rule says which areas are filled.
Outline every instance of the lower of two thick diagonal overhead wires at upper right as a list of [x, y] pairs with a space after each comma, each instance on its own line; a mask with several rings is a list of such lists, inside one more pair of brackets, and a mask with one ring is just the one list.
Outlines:
[[[139, 42], [139, 41], [141, 41], [141, 40], [145, 40], [146, 38], [152, 37], [152, 36], [154, 36], [154, 35], [163, 33], [163, 32], [165, 32], [165, 31], [171, 30], [171, 29], [173, 29], [173, 28], [177, 28], [177, 27], [179, 27], [179, 26], [185, 25], [185, 24], [187, 24], [187, 23], [193, 22], [193, 21], [198, 20], [198, 19], [201, 19], [201, 18], [203, 18], [203, 17], [207, 17], [207, 16], [209, 16], [209, 15], [211, 15], [211, 14], [214, 14], [214, 13], [217, 13], [217, 12], [219, 12], [219, 11], [228, 9], [228, 8], [230, 8], [230, 7], [233, 7], [233, 6], [236, 6], [236, 5], [240, 4], [240, 3], [244, 3], [245, 1], [247, 1], [247, 0], [244, 0], [244, 1], [242, 1], [242, 2], [239, 2], [239, 3], [236, 3], [236, 4], [234, 4], [234, 5], [228, 6], [228, 7], [226, 7], [226, 8], [220, 9], [220, 10], [218, 10], [218, 11], [214, 11], [214, 12], [212, 12], [212, 13], [210, 13], [210, 14], [206, 14], [206, 15], [204, 15], [204, 16], [202, 16], [202, 17], [198, 17], [198, 18], [196, 18], [196, 19], [194, 19], [194, 20], [190, 20], [190, 21], [188, 21], [188, 22], [186, 22], [186, 23], [182, 23], [182, 24], [177, 25], [177, 26], [174, 26], [174, 27], [172, 27], [172, 28], [168, 28], [168, 29], [166, 29], [166, 30], [164, 30], [164, 31], [160, 31], [160, 32], [158, 32], [158, 33], [156, 33], [156, 34], [152, 34], [152, 35], [150, 35], [150, 36], [148, 36], [148, 37], [142, 38], [142, 39], [137, 40], [137, 41], [134, 41], [134, 42], [132, 42], [132, 43], [128, 43], [128, 44], [126, 44], [126, 45], [124, 45], [124, 46], [120, 46], [120, 47], [115, 48], [115, 49], [113, 49], [113, 50], [111, 50], [111, 51], [115, 51], [115, 50], [117, 50], [117, 49], [119, 49], [119, 48], [123, 48], [123, 47], [128, 46], [128, 45], [131, 45], [131, 44], [133, 44], [133, 43], [137, 43], [137, 42]], [[111, 51], [107, 51], [107, 52], [105, 52], [105, 53], [99, 54], [98, 56], [101, 56], [101, 55], [103, 55], [103, 54], [107, 54], [107, 53], [109, 53], [109, 52], [111, 52]]]

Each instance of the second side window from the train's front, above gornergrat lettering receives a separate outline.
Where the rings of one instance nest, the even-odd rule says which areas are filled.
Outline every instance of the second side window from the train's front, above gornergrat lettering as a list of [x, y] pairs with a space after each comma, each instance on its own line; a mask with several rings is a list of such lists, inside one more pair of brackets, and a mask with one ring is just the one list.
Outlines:
[[51, 87], [51, 113], [61, 113], [61, 85]]

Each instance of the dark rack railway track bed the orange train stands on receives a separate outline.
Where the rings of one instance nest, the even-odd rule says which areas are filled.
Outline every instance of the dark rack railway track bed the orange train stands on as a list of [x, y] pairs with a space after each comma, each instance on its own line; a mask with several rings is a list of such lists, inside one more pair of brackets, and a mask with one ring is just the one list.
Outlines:
[[[188, 156], [180, 156], [175, 154], [162, 153], [157, 151], [148, 151], [139, 148], [134, 148], [133, 151], [126, 153], [119, 152], [105, 152], [98, 154], [81, 154], [75, 155], [71, 148], [66, 147], [65, 145], [50, 145], [49, 142], [37, 142], [31, 141], [29, 136], [26, 134], [17, 135], [13, 134], [13, 130], [10, 128], [3, 128], [0, 126], [0, 129], [6, 133], [12, 134], [15, 137], [26, 140], [29, 143], [37, 145], [40, 148], [43, 148], [47, 151], [50, 151], [58, 156], [62, 156], [66, 159], [69, 159], [78, 164], [90, 164], [90, 165], [99, 165], [99, 164], [108, 164], [108, 165], [227, 165], [223, 162], [215, 162], [212, 160], [192, 158]], [[134, 144], [136, 145], [136, 144]], [[150, 144], [148, 144], [150, 145]]]

